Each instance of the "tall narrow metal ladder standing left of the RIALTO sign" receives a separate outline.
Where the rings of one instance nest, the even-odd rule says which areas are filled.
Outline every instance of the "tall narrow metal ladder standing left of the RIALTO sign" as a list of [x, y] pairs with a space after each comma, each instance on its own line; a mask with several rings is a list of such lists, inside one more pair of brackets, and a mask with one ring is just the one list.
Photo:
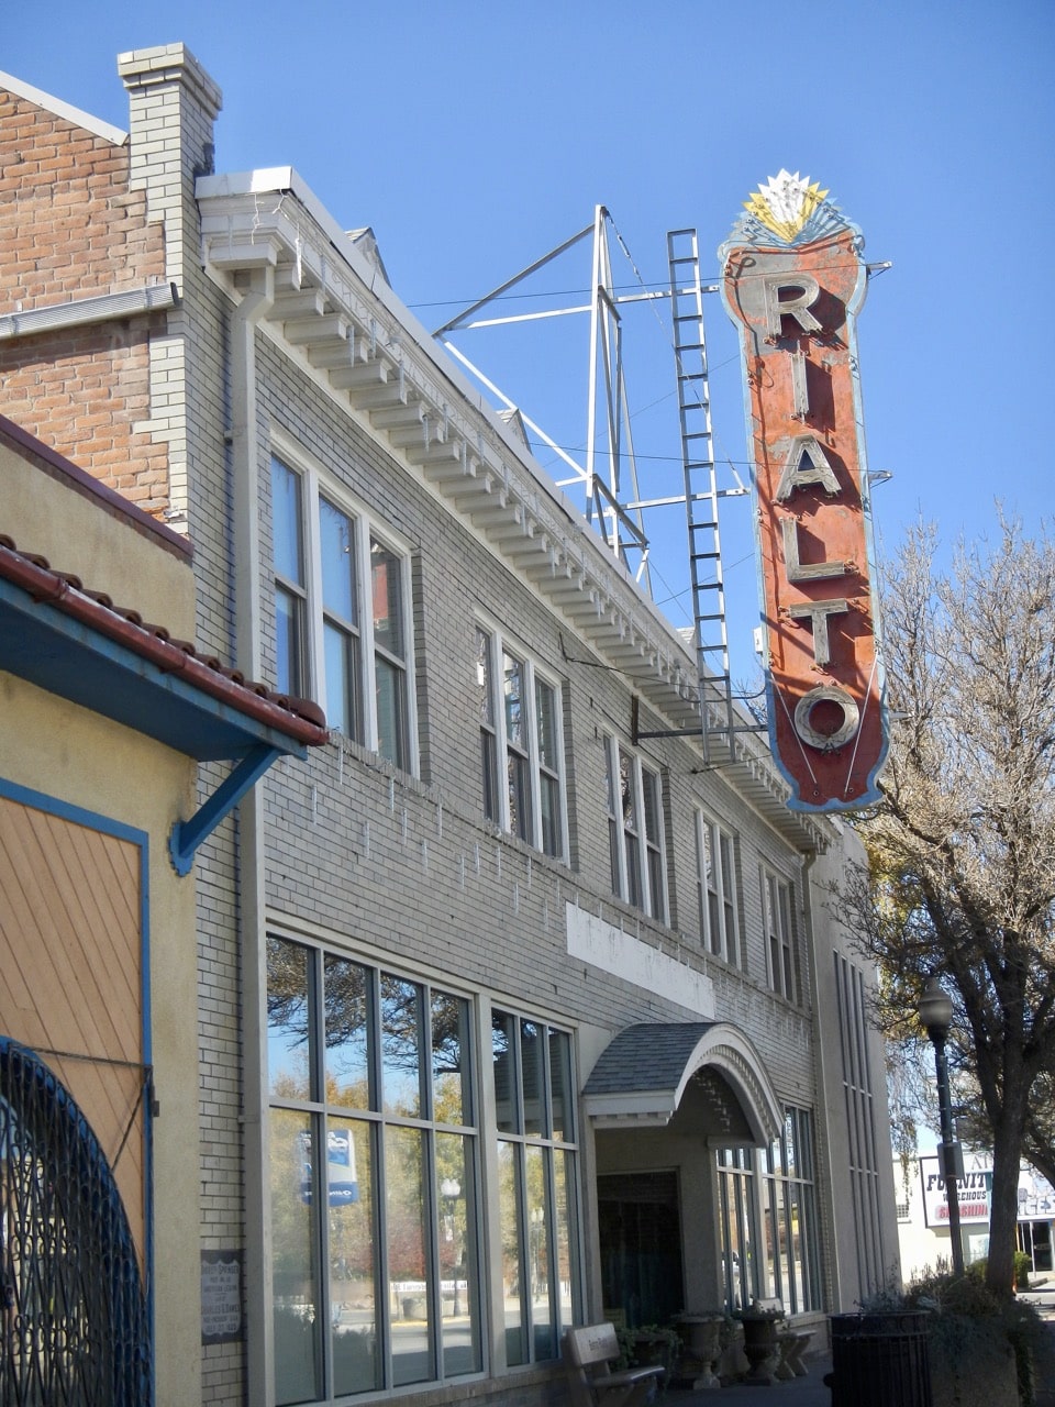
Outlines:
[[726, 588], [717, 522], [717, 474], [710, 428], [703, 288], [695, 229], [667, 232], [674, 356], [678, 377], [681, 463], [685, 476], [693, 644], [705, 761], [733, 750], [733, 687], [729, 678]]

